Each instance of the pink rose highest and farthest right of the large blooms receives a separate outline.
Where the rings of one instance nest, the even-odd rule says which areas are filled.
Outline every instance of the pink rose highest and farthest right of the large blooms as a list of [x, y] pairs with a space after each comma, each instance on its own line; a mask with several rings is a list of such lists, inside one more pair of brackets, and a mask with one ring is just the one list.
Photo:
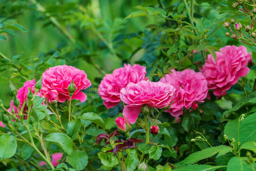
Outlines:
[[208, 82], [208, 88], [213, 89], [213, 94], [225, 96], [226, 90], [250, 71], [246, 65], [251, 60], [251, 53], [248, 54], [244, 46], [225, 46], [220, 51], [216, 52], [216, 61], [212, 55], [208, 55], [201, 72]]

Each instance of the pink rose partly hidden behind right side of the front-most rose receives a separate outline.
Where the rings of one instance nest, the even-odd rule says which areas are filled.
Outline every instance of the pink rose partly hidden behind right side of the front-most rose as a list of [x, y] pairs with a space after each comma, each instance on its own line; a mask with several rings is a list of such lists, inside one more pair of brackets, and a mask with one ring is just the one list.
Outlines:
[[172, 70], [172, 73], [166, 74], [160, 79], [160, 82], [170, 84], [176, 88], [176, 95], [173, 104], [166, 111], [170, 115], [177, 117], [182, 115], [183, 108], [189, 109], [196, 102], [204, 102], [208, 93], [207, 82], [201, 72], [186, 69], [184, 71]]

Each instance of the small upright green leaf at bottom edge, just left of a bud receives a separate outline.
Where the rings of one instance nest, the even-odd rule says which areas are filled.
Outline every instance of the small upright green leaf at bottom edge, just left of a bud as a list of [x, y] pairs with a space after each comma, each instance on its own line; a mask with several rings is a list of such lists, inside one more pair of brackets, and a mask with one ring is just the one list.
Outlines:
[[135, 149], [126, 150], [127, 157], [125, 158], [124, 164], [127, 171], [133, 171], [139, 165], [139, 158]]

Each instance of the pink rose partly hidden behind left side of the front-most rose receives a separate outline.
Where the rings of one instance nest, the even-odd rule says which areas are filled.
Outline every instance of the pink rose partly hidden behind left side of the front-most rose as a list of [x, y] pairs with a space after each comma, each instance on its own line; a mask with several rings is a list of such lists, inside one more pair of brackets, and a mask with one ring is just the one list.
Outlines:
[[106, 74], [99, 86], [99, 95], [104, 100], [105, 107], [112, 108], [120, 103], [120, 91], [128, 83], [138, 83], [146, 80], [146, 67], [134, 64], [124, 64], [123, 68], [113, 71], [113, 74]]

